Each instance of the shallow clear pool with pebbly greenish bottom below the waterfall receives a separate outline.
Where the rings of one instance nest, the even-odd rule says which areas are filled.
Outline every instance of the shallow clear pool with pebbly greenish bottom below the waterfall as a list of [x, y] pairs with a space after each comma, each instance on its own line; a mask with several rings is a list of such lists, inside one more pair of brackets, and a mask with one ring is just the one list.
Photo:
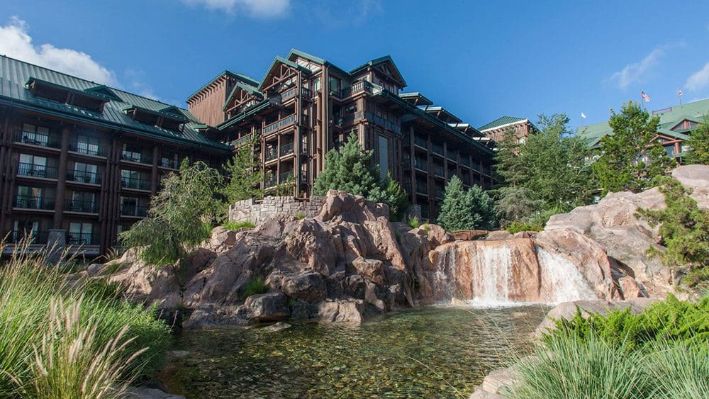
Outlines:
[[188, 398], [466, 397], [491, 370], [529, 349], [548, 308], [410, 310], [358, 327], [189, 332], [176, 349], [172, 393]]

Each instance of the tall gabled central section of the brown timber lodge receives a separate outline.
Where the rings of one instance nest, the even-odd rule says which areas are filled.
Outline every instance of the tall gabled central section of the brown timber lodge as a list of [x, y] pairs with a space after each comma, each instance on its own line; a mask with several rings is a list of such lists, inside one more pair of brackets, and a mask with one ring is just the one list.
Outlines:
[[381, 176], [390, 173], [423, 218], [435, 218], [453, 175], [466, 186], [493, 184], [493, 140], [404, 87], [388, 56], [347, 72], [291, 50], [260, 81], [225, 71], [187, 103], [210, 125], [203, 130], [210, 140], [238, 148], [257, 139], [264, 189], [292, 184], [294, 196], [307, 198], [325, 154], [354, 133], [374, 153]]

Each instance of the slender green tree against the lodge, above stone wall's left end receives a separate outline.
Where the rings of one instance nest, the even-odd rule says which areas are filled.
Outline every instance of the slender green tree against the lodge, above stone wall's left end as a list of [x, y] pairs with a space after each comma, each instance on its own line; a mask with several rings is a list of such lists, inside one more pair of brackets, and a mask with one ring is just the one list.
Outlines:
[[235, 203], [249, 198], [263, 198], [261, 189], [263, 179], [261, 162], [256, 155], [257, 137], [244, 143], [234, 157], [224, 164], [224, 170], [229, 176], [221, 190], [228, 203]]

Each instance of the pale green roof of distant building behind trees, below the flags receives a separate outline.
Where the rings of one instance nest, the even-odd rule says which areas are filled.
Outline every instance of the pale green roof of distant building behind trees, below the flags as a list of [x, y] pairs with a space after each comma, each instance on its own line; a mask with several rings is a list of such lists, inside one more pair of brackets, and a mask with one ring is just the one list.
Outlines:
[[[688, 137], [685, 134], [686, 130], [674, 132], [670, 129], [674, 128], [685, 119], [701, 123], [704, 116], [709, 115], [709, 99], [652, 111], [651, 115], [660, 117], [659, 125], [657, 125], [657, 133], [686, 140]], [[586, 138], [588, 146], [591, 148], [598, 147], [601, 143], [601, 138], [610, 133], [613, 133], [613, 131], [610, 129], [608, 122], [581, 126], [578, 130], [578, 134]]]

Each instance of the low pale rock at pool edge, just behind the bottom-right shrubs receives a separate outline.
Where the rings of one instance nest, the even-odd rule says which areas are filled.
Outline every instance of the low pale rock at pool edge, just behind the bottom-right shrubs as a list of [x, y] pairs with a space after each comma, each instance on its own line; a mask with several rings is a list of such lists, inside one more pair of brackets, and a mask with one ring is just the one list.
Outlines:
[[632, 314], [637, 315], [658, 300], [658, 298], [634, 298], [614, 302], [608, 300], [574, 300], [573, 302], [559, 303], [552, 310], [549, 310], [547, 317], [537, 326], [535, 336], [541, 337], [545, 332], [556, 328], [554, 320], [571, 320], [576, 315], [577, 308], [581, 310], [581, 315], [584, 317], [588, 317], [591, 313], [605, 315], [615, 309], [630, 309]]

